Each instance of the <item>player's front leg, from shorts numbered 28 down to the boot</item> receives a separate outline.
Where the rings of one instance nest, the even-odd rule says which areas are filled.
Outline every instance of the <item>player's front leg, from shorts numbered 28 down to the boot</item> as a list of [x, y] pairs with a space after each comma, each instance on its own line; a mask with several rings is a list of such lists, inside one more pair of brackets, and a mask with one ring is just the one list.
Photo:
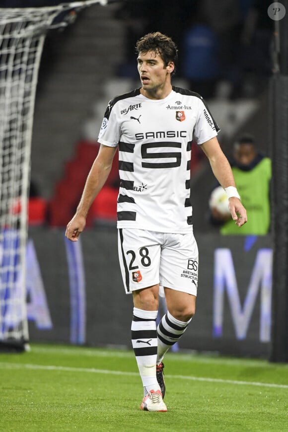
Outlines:
[[126, 292], [133, 292], [132, 345], [144, 386], [141, 408], [166, 411], [156, 379], [160, 245], [145, 230], [119, 230], [119, 260]]

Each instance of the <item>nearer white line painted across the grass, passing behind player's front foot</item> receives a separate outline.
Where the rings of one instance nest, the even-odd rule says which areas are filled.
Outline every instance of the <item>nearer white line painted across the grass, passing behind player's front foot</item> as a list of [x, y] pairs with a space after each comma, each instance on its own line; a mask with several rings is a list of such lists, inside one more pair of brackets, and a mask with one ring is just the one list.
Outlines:
[[[5, 363], [0, 362], [0, 367], [6, 369], [40, 369], [40, 370], [62, 370], [64, 372], [88, 372], [88, 373], [103, 373], [107, 375], [123, 375], [123, 376], [139, 376], [138, 372], [123, 372], [121, 370], [107, 370], [107, 369], [94, 369], [85, 367], [68, 367], [68, 366], [53, 366], [53, 365], [41, 365], [41, 364], [17, 364], [17, 363]], [[254, 382], [254, 381], [236, 381], [232, 379], [220, 379], [220, 378], [204, 378], [199, 376], [185, 376], [185, 375], [166, 375], [166, 378], [174, 379], [185, 379], [190, 381], [204, 381], [204, 382], [221, 382], [223, 384], [236, 384], [236, 385], [253, 385], [258, 387], [274, 387], [288, 389], [288, 385], [285, 384], [270, 384], [265, 382]]]

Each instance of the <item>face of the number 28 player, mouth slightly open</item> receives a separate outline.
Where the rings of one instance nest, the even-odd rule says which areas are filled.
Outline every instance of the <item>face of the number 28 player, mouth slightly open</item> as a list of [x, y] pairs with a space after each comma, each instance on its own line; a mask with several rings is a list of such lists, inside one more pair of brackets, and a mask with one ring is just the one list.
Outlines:
[[170, 83], [171, 72], [174, 70], [173, 62], [165, 66], [160, 55], [154, 51], [139, 53], [137, 62], [144, 90], [153, 91]]

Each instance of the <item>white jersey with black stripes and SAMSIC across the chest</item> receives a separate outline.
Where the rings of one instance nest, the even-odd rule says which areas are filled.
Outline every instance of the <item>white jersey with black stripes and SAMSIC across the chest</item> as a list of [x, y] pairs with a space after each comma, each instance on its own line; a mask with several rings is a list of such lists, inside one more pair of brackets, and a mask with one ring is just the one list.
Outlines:
[[98, 142], [119, 146], [117, 227], [184, 233], [192, 229], [192, 140], [219, 130], [201, 96], [174, 87], [159, 100], [140, 89], [112, 99]]

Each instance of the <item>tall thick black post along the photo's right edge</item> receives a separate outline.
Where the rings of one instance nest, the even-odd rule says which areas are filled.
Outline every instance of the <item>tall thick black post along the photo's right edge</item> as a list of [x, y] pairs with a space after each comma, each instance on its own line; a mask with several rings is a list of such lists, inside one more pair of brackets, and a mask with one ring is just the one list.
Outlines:
[[[274, 24], [274, 75], [270, 80], [273, 209], [273, 290], [270, 361], [288, 362], [288, 0]], [[278, 9], [279, 10], [279, 9]]]

